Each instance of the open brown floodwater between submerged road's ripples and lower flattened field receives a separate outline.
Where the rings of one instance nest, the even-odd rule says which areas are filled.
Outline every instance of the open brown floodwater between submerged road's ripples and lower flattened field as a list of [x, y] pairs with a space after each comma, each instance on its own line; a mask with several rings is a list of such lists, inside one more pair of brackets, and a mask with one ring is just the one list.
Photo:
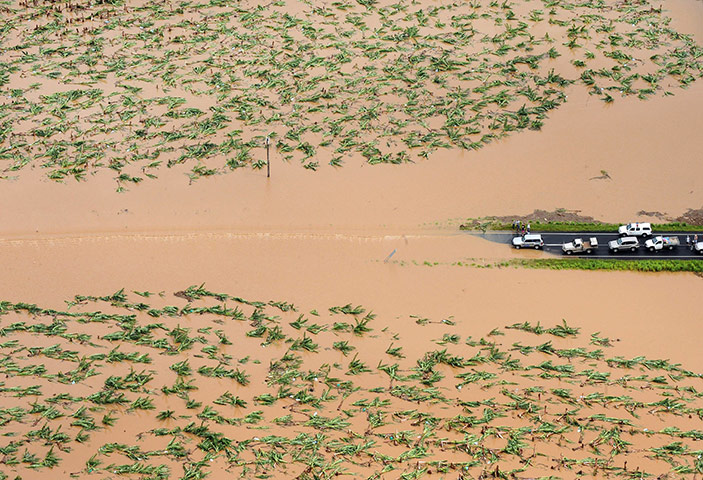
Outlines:
[[212, 291], [310, 309], [363, 304], [398, 322], [453, 317], [475, 336], [496, 325], [566, 319], [622, 338], [623, 355], [703, 360], [700, 278], [450, 265], [514, 254], [541, 255], [469, 235], [186, 234], [5, 241], [0, 261], [4, 296], [13, 301], [61, 306], [76, 294], [172, 292], [205, 282]]

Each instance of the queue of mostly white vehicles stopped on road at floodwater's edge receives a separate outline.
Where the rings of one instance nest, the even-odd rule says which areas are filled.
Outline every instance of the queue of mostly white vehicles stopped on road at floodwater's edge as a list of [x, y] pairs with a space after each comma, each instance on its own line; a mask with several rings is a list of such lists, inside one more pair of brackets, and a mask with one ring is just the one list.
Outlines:
[[[674, 250], [681, 246], [681, 240], [676, 235], [652, 236], [652, 225], [650, 223], [628, 223], [621, 225], [618, 228], [620, 238], [608, 242], [608, 249], [612, 253], [618, 252], [635, 252], [638, 248], [644, 247], [650, 252], [659, 252], [662, 250]], [[649, 238], [652, 237], [652, 238]], [[640, 243], [640, 239], [644, 241]], [[520, 248], [544, 248], [544, 240], [539, 233], [528, 233], [522, 236], [513, 238], [513, 247]], [[703, 238], [701, 241], [694, 241], [690, 244], [692, 251], [703, 254]], [[573, 254], [590, 254], [598, 249], [598, 239], [590, 237], [588, 239], [575, 238], [571, 242], [564, 243], [561, 246], [562, 252], [567, 255]]]

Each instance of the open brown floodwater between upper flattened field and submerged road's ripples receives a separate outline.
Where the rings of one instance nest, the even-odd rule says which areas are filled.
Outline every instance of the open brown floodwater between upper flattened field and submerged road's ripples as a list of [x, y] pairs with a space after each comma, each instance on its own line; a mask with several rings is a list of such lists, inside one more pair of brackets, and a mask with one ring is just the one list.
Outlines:
[[[3, 183], [0, 234], [160, 232], [402, 233], [449, 219], [579, 210], [603, 221], [636, 213], [678, 216], [703, 206], [703, 84], [673, 97], [605, 105], [574, 89], [541, 132], [521, 132], [471, 153], [441, 152], [411, 165], [350, 165], [310, 172], [272, 155], [265, 171], [188, 185], [177, 168], [114, 192], [109, 173], [66, 184], [24, 172]], [[261, 154], [264, 152], [262, 150]], [[592, 179], [606, 171], [611, 179]], [[28, 174], [29, 173], [29, 174]]]

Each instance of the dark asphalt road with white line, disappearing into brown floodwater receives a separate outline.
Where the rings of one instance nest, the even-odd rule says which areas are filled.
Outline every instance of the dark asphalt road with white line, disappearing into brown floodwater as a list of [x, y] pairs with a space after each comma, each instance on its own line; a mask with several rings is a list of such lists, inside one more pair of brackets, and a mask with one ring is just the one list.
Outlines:
[[[467, 232], [471, 235], [477, 237], [485, 238], [491, 242], [504, 243], [506, 248], [512, 247], [512, 239], [515, 237], [514, 233], [511, 232]], [[570, 242], [575, 238], [581, 238], [584, 241], [591, 237], [596, 237], [598, 239], [598, 248], [591, 254], [573, 254], [568, 255], [568, 257], [585, 257], [585, 258], [621, 258], [621, 259], [646, 259], [646, 258], [669, 258], [669, 259], [679, 259], [679, 260], [703, 260], [703, 255], [697, 254], [691, 251], [690, 247], [686, 245], [686, 233], [666, 233], [663, 234], [666, 237], [677, 236], [681, 242], [681, 246], [674, 247], [673, 250], [659, 250], [655, 252], [650, 252], [644, 248], [644, 239], [640, 239], [640, 247], [634, 252], [618, 252], [612, 253], [608, 248], [608, 242], [611, 240], [617, 240], [619, 237], [616, 233], [612, 232], [590, 232], [590, 233], [540, 233], [542, 239], [544, 240], [544, 251], [553, 255], [567, 257], [567, 255], [561, 250], [561, 246]], [[691, 236], [691, 241], [693, 241], [693, 234], [689, 233]], [[655, 235], [656, 236], [656, 235]], [[651, 237], [650, 237], [651, 238]], [[699, 241], [703, 238], [703, 232], [698, 233]]]

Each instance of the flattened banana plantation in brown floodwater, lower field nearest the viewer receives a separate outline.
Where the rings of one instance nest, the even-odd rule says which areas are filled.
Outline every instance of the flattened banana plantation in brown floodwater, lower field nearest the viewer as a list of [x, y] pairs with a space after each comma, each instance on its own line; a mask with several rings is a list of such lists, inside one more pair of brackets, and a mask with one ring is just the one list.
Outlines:
[[204, 285], [2, 301], [0, 478], [700, 477], [700, 373], [506, 323]]

